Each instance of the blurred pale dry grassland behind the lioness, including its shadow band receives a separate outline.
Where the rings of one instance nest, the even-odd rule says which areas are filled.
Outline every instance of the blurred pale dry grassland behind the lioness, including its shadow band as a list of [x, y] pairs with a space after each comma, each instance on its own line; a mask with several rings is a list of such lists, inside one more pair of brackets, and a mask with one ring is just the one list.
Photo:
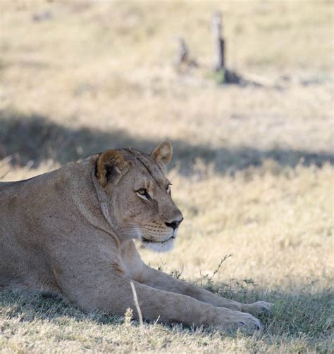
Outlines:
[[[107, 148], [149, 152], [168, 139], [185, 222], [175, 250], [144, 252], [149, 262], [184, 267], [195, 279], [233, 253], [222, 279], [252, 274], [264, 286], [291, 286], [329, 276], [331, 1], [0, 7], [2, 181]], [[225, 40], [218, 71], [217, 11]]]

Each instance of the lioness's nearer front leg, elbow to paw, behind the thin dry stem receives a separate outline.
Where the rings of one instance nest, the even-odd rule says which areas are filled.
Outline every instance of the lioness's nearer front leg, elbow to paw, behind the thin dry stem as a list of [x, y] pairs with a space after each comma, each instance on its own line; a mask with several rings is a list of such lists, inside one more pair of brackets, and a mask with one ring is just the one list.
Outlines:
[[[101, 279], [99, 282], [99, 289], [92, 286], [92, 283], [90, 286], [85, 284], [85, 291], [75, 289], [75, 298], [71, 300], [85, 310], [106, 310], [112, 315], [124, 315], [128, 308], [132, 308], [133, 314], [137, 317], [131, 280], [123, 276], [109, 277], [109, 282], [104, 280]], [[195, 327], [209, 325], [220, 329], [261, 328], [259, 320], [248, 313], [216, 308], [190, 296], [154, 289], [138, 282], [133, 283], [142, 316], [147, 320], [167, 324], [180, 322]]]

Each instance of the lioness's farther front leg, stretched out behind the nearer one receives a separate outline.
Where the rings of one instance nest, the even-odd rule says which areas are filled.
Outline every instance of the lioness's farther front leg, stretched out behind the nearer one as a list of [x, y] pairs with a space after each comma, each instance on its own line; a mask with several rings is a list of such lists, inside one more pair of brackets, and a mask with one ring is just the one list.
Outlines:
[[228, 308], [230, 310], [251, 312], [253, 314], [259, 314], [259, 312], [270, 312], [271, 303], [265, 303], [264, 301], [258, 301], [256, 303], [238, 303], [237, 301], [229, 300], [227, 298], [221, 298], [216, 296], [210, 291], [199, 288], [187, 282], [183, 282], [180, 279], [175, 279], [164, 272], [155, 270], [154, 268], [146, 266], [140, 281], [143, 284], [147, 284], [156, 289], [165, 291], [171, 291], [173, 293], [181, 293], [192, 298], [196, 298], [204, 303], [209, 303], [217, 307]]

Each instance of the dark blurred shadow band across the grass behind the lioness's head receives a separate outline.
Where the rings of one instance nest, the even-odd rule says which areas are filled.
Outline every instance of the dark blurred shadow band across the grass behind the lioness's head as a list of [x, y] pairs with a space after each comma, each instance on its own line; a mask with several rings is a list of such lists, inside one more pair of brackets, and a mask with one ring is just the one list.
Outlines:
[[[57, 125], [40, 115], [24, 116], [0, 111], [0, 159], [11, 156], [13, 165], [31, 164], [37, 167], [43, 160], [53, 159], [61, 164], [78, 160], [108, 148], [135, 147], [149, 153], [161, 141], [141, 139], [125, 130], [69, 128]], [[285, 148], [262, 151], [251, 146], [240, 148], [210, 148], [171, 139], [174, 147], [174, 164], [180, 165], [180, 173], [190, 175], [194, 160], [201, 158], [212, 163], [215, 172], [226, 173], [243, 170], [249, 166], [261, 166], [265, 159], [280, 166], [334, 165], [331, 153], [312, 153]]]

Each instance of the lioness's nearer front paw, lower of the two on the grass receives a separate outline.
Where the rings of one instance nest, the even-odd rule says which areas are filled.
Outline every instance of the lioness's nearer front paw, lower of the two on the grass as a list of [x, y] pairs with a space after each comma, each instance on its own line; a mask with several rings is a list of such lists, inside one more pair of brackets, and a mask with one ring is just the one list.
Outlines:
[[224, 330], [244, 328], [254, 331], [262, 328], [261, 322], [249, 313], [228, 309], [221, 309], [219, 322], [218, 327]]

